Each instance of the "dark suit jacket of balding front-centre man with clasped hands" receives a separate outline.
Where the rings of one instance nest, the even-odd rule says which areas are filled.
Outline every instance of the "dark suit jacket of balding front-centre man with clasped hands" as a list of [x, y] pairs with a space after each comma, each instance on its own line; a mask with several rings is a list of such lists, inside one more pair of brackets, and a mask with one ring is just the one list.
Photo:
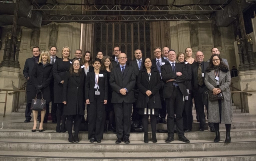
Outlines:
[[[124, 75], [122, 74], [119, 65], [112, 68], [109, 82], [113, 89], [111, 103], [135, 102], [133, 88], [136, 83], [136, 77], [133, 67], [126, 65], [124, 68]], [[126, 88], [128, 90], [126, 95], [120, 94], [119, 91], [122, 88]]]

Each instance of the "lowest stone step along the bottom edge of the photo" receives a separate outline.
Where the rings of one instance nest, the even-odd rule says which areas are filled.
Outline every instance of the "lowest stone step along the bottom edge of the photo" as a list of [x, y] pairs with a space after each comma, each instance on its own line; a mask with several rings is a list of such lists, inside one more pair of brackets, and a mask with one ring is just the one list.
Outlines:
[[159, 153], [65, 153], [65, 152], [25, 152], [0, 151], [1, 161], [254, 161], [256, 151], [184, 151]]

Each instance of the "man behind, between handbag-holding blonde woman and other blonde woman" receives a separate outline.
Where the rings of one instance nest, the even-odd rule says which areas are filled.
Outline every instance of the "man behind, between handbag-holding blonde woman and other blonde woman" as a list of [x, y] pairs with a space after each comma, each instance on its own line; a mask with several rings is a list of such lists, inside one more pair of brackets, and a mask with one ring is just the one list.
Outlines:
[[[51, 59], [51, 64], [53, 65], [56, 61], [56, 59], [60, 59], [56, 56], [58, 52], [58, 49], [56, 46], [50, 47], [50, 59]], [[56, 111], [57, 111], [57, 104], [54, 103], [54, 79], [52, 79], [52, 82], [50, 84], [50, 90], [51, 90], [51, 100], [52, 100], [52, 110], [51, 110], [51, 116], [52, 116], [52, 123], [57, 123], [57, 118], [56, 118]], [[47, 116], [46, 116], [47, 115]], [[45, 114], [45, 116], [48, 118], [49, 114]], [[44, 120], [46, 119], [44, 118]]]

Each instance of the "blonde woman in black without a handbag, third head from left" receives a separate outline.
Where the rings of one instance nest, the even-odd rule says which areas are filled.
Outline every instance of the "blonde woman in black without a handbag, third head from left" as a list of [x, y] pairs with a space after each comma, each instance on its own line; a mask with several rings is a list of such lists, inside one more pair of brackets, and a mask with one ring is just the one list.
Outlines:
[[[62, 48], [62, 59], [56, 59], [53, 67], [52, 73], [54, 77], [54, 103], [57, 104], [57, 125], [56, 132], [66, 132], [65, 122], [66, 116], [63, 115], [63, 103], [62, 103], [62, 87], [64, 83], [64, 78], [66, 78], [67, 73], [70, 69], [70, 49], [69, 47]], [[62, 125], [60, 127], [60, 120], [62, 119]]]

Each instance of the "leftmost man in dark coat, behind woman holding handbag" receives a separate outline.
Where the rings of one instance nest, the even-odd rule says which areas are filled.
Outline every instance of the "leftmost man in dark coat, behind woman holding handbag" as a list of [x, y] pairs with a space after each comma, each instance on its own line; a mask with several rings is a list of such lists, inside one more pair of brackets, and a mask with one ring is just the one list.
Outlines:
[[26, 120], [24, 122], [30, 122], [31, 120], [31, 116], [30, 116], [32, 112], [32, 110], [30, 110], [31, 101], [36, 96], [36, 88], [33, 85], [32, 80], [30, 78], [31, 78], [32, 69], [34, 68], [35, 63], [38, 63], [39, 61], [40, 48], [37, 46], [33, 47], [32, 51], [33, 51], [33, 57], [26, 59], [24, 69], [23, 69], [23, 75], [28, 80], [27, 87], [26, 87], [26, 94], [27, 94], [27, 105], [25, 110]]

